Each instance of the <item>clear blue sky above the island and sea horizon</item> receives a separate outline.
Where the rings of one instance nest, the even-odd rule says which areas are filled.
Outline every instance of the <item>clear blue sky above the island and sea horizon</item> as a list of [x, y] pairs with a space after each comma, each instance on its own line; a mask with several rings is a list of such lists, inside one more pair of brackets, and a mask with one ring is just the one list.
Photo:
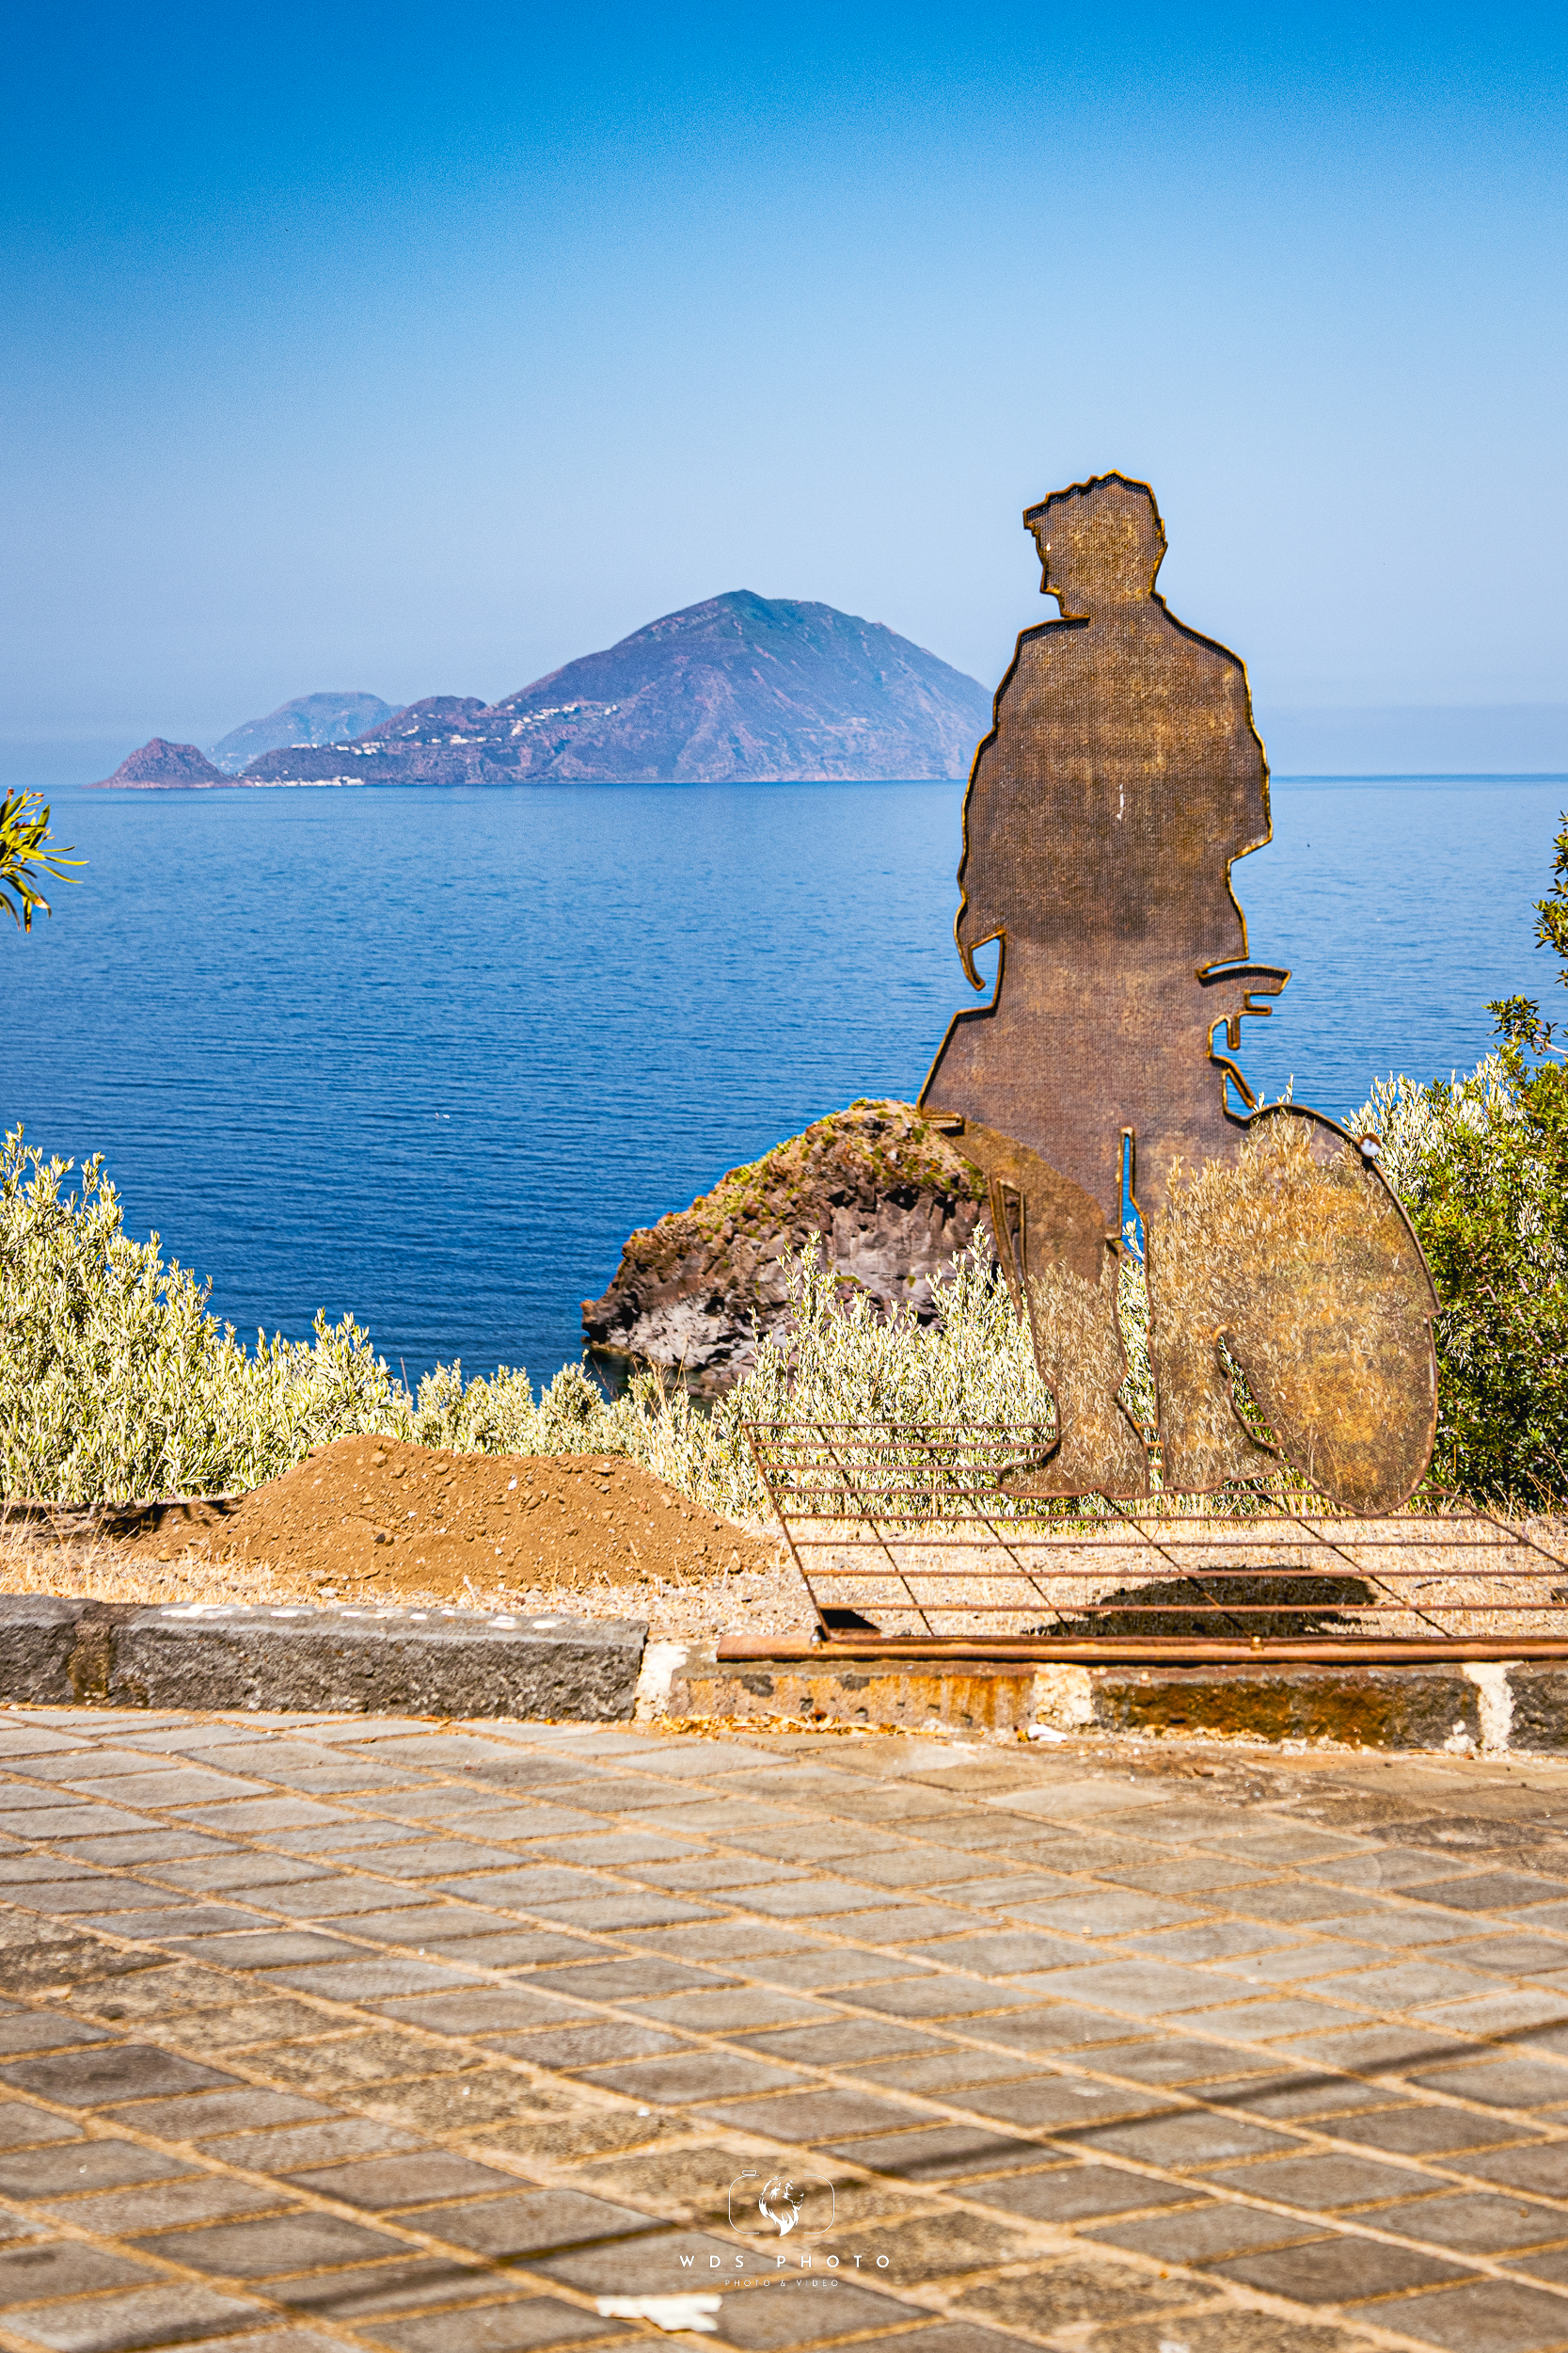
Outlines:
[[498, 696], [738, 586], [992, 682], [1110, 466], [1265, 722], [1568, 704], [1566, 24], [19, 12], [0, 734]]

